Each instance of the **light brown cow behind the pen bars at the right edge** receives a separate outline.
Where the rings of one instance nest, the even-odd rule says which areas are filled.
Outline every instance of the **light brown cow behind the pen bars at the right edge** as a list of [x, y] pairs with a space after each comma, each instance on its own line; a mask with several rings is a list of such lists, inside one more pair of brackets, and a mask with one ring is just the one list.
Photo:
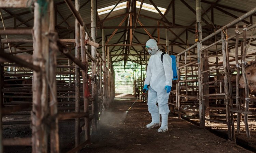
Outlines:
[[[256, 90], [256, 64], [246, 67], [245, 74], [246, 74], [249, 89]], [[245, 87], [243, 76], [239, 80], [239, 85], [240, 85], [240, 88]]]

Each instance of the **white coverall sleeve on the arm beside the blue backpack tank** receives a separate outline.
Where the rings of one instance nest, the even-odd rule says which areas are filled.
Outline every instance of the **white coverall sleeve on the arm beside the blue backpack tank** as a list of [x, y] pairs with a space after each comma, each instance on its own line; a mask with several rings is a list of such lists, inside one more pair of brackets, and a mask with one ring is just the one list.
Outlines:
[[166, 85], [172, 87], [172, 58], [168, 54], [163, 55], [163, 68], [165, 69]]

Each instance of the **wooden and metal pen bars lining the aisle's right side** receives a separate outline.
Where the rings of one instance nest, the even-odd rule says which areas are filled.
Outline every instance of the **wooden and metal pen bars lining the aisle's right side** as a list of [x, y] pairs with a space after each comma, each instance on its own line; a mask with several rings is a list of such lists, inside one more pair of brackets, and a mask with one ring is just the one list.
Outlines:
[[[236, 80], [236, 84], [239, 85], [239, 69], [242, 66], [242, 75], [244, 77], [244, 80], [246, 82], [246, 75], [245, 75], [245, 66], [248, 65], [248, 63], [245, 61], [245, 56], [246, 56], [246, 30], [251, 30], [256, 27], [256, 24], [250, 26], [250, 27], [244, 27], [243, 31], [238, 31], [238, 26], [236, 30], [236, 34], [232, 36], [227, 36], [227, 29], [238, 22], [242, 21], [243, 19], [253, 15], [256, 12], [256, 8], [252, 9], [251, 11], [245, 13], [241, 17], [233, 20], [232, 22], [228, 23], [226, 26], [223, 26], [222, 28], [216, 30], [214, 33], [206, 36], [205, 38], [201, 38], [200, 33], [201, 33], [201, 12], [198, 8], [201, 8], [200, 1], [197, 0], [197, 32], [199, 33], [199, 40], [196, 44], [188, 47], [181, 53], [176, 55], [177, 58], [177, 69], [178, 69], [178, 80], [177, 80], [177, 86], [176, 86], [176, 106], [178, 107], [178, 115], [179, 118], [181, 117], [181, 111], [185, 112], [190, 112], [199, 115], [199, 120], [200, 120], [200, 127], [204, 128], [205, 124], [209, 124], [211, 122], [217, 122], [217, 123], [224, 123], [228, 127], [228, 138], [230, 140], [233, 140], [236, 142], [235, 138], [235, 133], [234, 133], [234, 117], [233, 113], [236, 112], [238, 113], [237, 119], [238, 124], [237, 124], [237, 130], [239, 131], [240, 129], [240, 113], [244, 114], [244, 123], [245, 123], [245, 130], [246, 130], [246, 135], [247, 137], [250, 137], [250, 132], [248, 129], [248, 114], [255, 114], [253, 112], [248, 111], [249, 110], [249, 102], [250, 102], [250, 97], [248, 97], [248, 84], [245, 83], [245, 98], [240, 98], [239, 95], [239, 90], [237, 89], [236, 96], [232, 96], [232, 85], [231, 85], [231, 74], [232, 72], [230, 71], [233, 67], [231, 66], [229, 62], [229, 46], [228, 46], [228, 41], [231, 40], [232, 38], [236, 37], [236, 69], [237, 69], [237, 76], [238, 79]], [[222, 37], [220, 40], [216, 41], [215, 43], [212, 43], [209, 46], [205, 46], [202, 48], [203, 42], [207, 41], [211, 37], [222, 33]], [[243, 56], [242, 56], [242, 63], [238, 63], [238, 34], [243, 33], [243, 39], [244, 43], [243, 46]], [[217, 43], [222, 43], [222, 49], [221, 53], [222, 55], [218, 55], [220, 52], [216, 50], [216, 55], [212, 54], [209, 55], [208, 49]], [[194, 49], [197, 47], [197, 56], [190, 55], [190, 50]], [[217, 49], [217, 48], [216, 48]], [[189, 52], [189, 56], [187, 54]], [[242, 52], [242, 51], [241, 51]], [[181, 65], [181, 60], [183, 56], [183, 61], [185, 61], [185, 64]], [[187, 63], [187, 58], [190, 57], [190, 63]], [[191, 61], [191, 57], [193, 57], [195, 60]], [[208, 58], [209, 57], [222, 57], [223, 59], [223, 66], [221, 63], [218, 63], [216, 61], [215, 64], [209, 64]], [[197, 65], [196, 65], [197, 64]], [[188, 74], [187, 69], [191, 67], [191, 72]], [[210, 68], [213, 67], [213, 68]], [[185, 77], [184, 77], [184, 72], [182, 69], [186, 69], [185, 71]], [[197, 69], [197, 74], [193, 74], [193, 70]], [[214, 72], [215, 71], [215, 72]], [[221, 79], [216, 79], [219, 78], [219, 74], [217, 72], [222, 72], [224, 75], [224, 90], [223, 88], [223, 80]], [[192, 73], [192, 74], [191, 74]], [[195, 73], [195, 71], [194, 71]], [[215, 77], [214, 81], [210, 81], [209, 79], [213, 79]], [[183, 79], [184, 78], [184, 79]], [[182, 80], [181, 80], [182, 79]], [[188, 85], [189, 83], [189, 85]], [[213, 85], [211, 85], [213, 84]], [[215, 89], [215, 93], [209, 93], [210, 89]], [[189, 91], [189, 92], [188, 92]], [[190, 95], [189, 95], [190, 94]], [[185, 98], [185, 101], [183, 101], [183, 98]], [[189, 99], [189, 100], [188, 100]], [[223, 101], [221, 100], [223, 99]], [[236, 109], [233, 108], [233, 99], [236, 100]], [[245, 100], [245, 109], [242, 111], [241, 110], [241, 102], [239, 103], [239, 99]], [[209, 100], [211, 100], [209, 102]], [[215, 100], [215, 101], [212, 101]], [[182, 104], [183, 102], [184, 104]], [[193, 104], [189, 103], [193, 102]], [[195, 107], [195, 103], [199, 103], [198, 107]], [[215, 103], [217, 107], [210, 107], [209, 103]], [[222, 104], [225, 104], [226, 107], [220, 107]], [[190, 107], [192, 105], [192, 107]], [[193, 110], [190, 110], [193, 109]], [[198, 111], [195, 111], [195, 109], [198, 109]], [[217, 109], [217, 110], [226, 110], [226, 121], [223, 120], [215, 120], [215, 119], [210, 119], [210, 110]]]

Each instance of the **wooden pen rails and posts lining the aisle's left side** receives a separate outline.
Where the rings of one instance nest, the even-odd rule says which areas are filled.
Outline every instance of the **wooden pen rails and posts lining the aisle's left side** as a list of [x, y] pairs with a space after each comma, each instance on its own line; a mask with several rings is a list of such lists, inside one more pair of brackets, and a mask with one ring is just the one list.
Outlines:
[[[13, 1], [13, 3], [1, 1], [1, 7], [28, 7], [24, 0], [16, 0], [16, 2], [19, 1], [22, 1], [24, 5], [16, 5]], [[108, 107], [114, 99], [114, 73], [110, 53], [108, 51], [108, 58], [106, 58], [105, 48], [102, 55], [97, 52], [99, 44], [94, 39], [96, 33], [92, 32], [91, 36], [88, 36], [84, 22], [81, 21], [80, 14], [77, 14], [79, 12], [78, 1], [75, 1], [74, 6], [70, 0], [66, 0], [76, 18], [75, 39], [58, 38], [54, 30], [53, 0], [47, 0], [47, 2], [47, 15], [39, 11], [42, 6], [37, 2], [33, 3], [34, 28], [32, 31], [1, 31], [1, 34], [32, 34], [33, 40], [26, 41], [33, 43], [33, 49], [27, 51], [33, 54], [33, 60], [28, 61], [29, 57], [13, 56], [19, 53], [18, 51], [16, 53], [4, 53], [4, 44], [9, 41], [25, 40], [1, 40], [0, 57], [5, 59], [4, 62], [8, 61], [9, 63], [3, 62], [0, 67], [0, 153], [3, 152], [4, 145], [32, 146], [32, 152], [34, 153], [47, 152], [48, 144], [51, 152], [58, 153], [60, 152], [58, 125], [62, 122], [73, 122], [74, 120], [76, 143], [75, 147], [69, 152], [79, 152], [86, 144], [90, 143], [90, 123], [92, 123], [93, 132], [95, 132], [102, 109]], [[91, 5], [95, 5], [93, 1]], [[76, 8], [76, 10], [73, 10], [73, 8]], [[91, 12], [92, 14], [96, 13], [95, 7], [91, 8]], [[93, 22], [95, 20], [93, 18]], [[102, 37], [105, 36], [102, 35]], [[91, 40], [88, 40], [89, 38]], [[71, 53], [71, 46], [74, 43], [75, 56]], [[104, 42], [102, 43], [104, 45]], [[92, 46], [91, 54], [88, 53], [88, 45]], [[60, 58], [60, 55], [65, 56]], [[61, 65], [60, 61], [67, 62], [69, 65]], [[106, 61], [108, 65], [106, 65]], [[91, 63], [91, 67], [89, 63]], [[90, 70], [92, 73], [90, 73]], [[15, 84], [8, 84], [9, 82]], [[82, 87], [80, 87], [81, 83]], [[31, 110], [32, 123], [30, 120], [2, 122], [2, 116], [4, 115], [27, 116], [30, 113], [20, 111]], [[81, 120], [82, 118], [83, 120]], [[21, 139], [2, 138], [2, 125], [30, 123], [32, 125], [32, 137]], [[83, 131], [84, 138], [82, 139], [80, 136]], [[80, 142], [81, 140], [84, 141]]]

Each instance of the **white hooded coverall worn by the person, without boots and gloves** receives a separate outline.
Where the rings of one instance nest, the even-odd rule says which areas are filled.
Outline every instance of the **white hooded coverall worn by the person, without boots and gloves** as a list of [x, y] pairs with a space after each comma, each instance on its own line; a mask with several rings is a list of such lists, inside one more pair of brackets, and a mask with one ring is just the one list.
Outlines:
[[170, 112], [168, 107], [170, 92], [166, 93], [165, 86], [172, 86], [172, 59], [168, 54], [164, 54], [161, 62], [162, 51], [158, 50], [154, 39], [148, 40], [146, 46], [157, 50], [156, 54], [150, 56], [144, 81], [144, 84], [150, 84], [147, 98], [148, 112], [167, 114]]

